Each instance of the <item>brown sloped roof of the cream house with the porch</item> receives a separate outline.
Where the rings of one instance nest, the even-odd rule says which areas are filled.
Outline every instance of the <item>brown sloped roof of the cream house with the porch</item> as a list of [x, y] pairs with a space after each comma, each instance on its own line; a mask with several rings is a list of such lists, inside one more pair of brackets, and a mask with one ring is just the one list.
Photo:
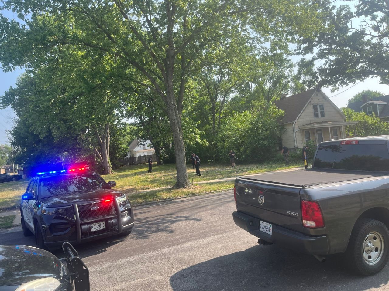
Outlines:
[[279, 109], [285, 110], [285, 114], [280, 120], [280, 124], [295, 121], [316, 90], [317, 88], [310, 89], [308, 91], [275, 101], [275, 106], [277, 106]]

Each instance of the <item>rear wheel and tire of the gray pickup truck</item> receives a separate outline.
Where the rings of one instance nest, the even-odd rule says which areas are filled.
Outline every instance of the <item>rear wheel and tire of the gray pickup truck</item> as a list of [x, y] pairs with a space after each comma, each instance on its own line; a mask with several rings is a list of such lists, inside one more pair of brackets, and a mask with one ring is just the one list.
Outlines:
[[356, 273], [368, 276], [380, 272], [388, 261], [389, 230], [379, 220], [357, 220], [346, 250], [347, 264]]

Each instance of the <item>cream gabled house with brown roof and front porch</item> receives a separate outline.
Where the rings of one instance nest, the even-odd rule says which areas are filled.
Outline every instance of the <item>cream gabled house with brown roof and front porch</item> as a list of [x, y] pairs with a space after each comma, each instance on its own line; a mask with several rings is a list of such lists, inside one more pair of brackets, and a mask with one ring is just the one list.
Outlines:
[[284, 97], [275, 105], [285, 110], [280, 124], [284, 126], [282, 145], [288, 148], [302, 148], [307, 141], [329, 141], [347, 138], [345, 116], [319, 88], [311, 89], [290, 97]]

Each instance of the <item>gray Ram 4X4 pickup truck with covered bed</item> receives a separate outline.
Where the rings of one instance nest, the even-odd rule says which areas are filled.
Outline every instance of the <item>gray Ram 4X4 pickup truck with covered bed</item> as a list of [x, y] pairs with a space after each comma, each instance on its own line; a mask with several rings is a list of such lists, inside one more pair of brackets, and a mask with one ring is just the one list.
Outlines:
[[235, 224], [320, 261], [345, 253], [362, 275], [379, 272], [389, 249], [389, 136], [323, 142], [312, 169], [235, 180]]

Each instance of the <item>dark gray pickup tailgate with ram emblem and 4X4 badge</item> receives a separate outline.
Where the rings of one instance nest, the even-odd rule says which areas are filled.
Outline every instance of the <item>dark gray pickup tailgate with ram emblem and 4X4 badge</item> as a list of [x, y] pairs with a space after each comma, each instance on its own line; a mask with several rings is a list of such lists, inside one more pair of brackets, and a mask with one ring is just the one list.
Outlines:
[[300, 188], [235, 180], [238, 211], [292, 230], [302, 231]]

